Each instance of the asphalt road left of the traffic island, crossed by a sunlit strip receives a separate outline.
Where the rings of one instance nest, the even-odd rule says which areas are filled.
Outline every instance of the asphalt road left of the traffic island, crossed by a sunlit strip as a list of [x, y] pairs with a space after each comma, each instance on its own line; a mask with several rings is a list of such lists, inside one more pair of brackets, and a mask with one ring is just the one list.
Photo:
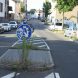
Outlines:
[[17, 40], [15, 30], [0, 34], [0, 56]]

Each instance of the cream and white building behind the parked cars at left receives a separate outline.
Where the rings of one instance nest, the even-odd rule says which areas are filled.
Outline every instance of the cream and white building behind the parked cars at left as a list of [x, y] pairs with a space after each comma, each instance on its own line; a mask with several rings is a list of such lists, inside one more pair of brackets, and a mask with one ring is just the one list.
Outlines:
[[24, 3], [24, 0], [11, 0], [11, 5], [12, 3], [14, 4], [12, 5], [13, 11], [11, 12], [12, 16], [14, 17], [14, 20], [20, 20], [23, 16], [23, 14], [21, 14], [21, 2]]

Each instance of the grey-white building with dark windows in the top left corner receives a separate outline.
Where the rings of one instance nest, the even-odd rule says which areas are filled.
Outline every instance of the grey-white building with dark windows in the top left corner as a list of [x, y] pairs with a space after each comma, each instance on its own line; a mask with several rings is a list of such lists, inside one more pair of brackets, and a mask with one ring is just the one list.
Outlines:
[[9, 0], [0, 0], [0, 22], [9, 21], [9, 11], [12, 11]]

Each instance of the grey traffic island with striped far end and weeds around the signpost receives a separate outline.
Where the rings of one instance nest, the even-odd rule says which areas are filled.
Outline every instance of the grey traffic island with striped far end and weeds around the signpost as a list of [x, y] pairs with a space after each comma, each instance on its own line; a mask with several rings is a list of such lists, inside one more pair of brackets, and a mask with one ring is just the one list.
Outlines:
[[0, 67], [18, 70], [45, 70], [54, 66], [50, 49], [43, 39], [32, 38], [28, 43], [31, 43], [32, 47], [28, 50], [26, 60], [23, 60], [25, 58], [23, 58], [22, 49], [16, 48], [22, 45], [17, 41], [0, 57]]

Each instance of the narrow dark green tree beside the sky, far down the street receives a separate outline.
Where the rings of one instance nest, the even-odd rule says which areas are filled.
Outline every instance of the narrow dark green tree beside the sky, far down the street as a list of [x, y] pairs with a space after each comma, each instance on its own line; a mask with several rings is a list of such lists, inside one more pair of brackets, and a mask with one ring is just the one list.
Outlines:
[[51, 14], [50, 9], [51, 9], [51, 3], [48, 0], [46, 0], [43, 3], [43, 12], [45, 14], [46, 22], [47, 22], [48, 15]]

